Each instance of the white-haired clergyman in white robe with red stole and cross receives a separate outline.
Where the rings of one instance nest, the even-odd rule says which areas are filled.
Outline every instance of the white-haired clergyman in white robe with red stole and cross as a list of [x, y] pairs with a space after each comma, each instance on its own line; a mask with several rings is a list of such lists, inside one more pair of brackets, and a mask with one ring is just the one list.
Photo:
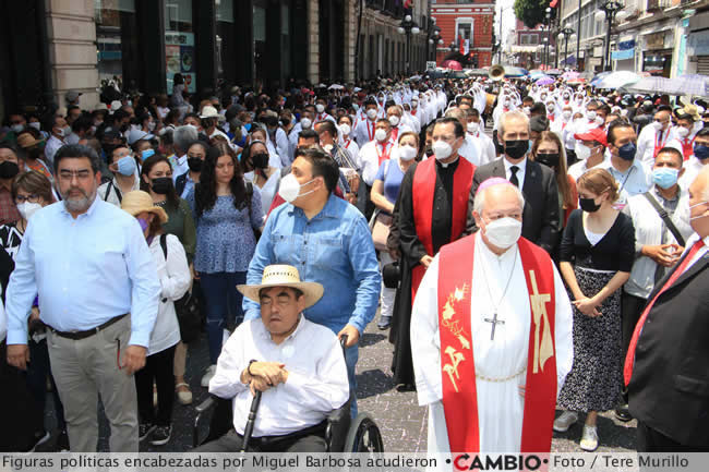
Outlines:
[[520, 238], [524, 205], [505, 179], [483, 182], [481, 230], [445, 245], [417, 293], [411, 346], [429, 452], [551, 448], [573, 363], [572, 306], [550, 256]]

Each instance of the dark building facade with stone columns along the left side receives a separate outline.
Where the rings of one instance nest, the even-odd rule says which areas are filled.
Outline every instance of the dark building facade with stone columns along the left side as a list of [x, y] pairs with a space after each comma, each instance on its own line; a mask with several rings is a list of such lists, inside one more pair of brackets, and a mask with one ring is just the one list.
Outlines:
[[[109, 84], [170, 94], [177, 73], [203, 97], [233, 84], [272, 90], [351, 82], [377, 70], [422, 71], [429, 0], [408, 7], [404, 0], [0, 0], [0, 114], [64, 106], [70, 89], [93, 108]], [[421, 33], [398, 33], [407, 13]]]

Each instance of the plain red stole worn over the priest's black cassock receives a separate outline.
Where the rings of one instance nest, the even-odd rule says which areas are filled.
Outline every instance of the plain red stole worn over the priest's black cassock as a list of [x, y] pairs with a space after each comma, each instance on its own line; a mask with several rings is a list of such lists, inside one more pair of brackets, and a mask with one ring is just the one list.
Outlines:
[[[472, 174], [474, 172], [476, 166], [462, 157], [458, 158], [458, 167], [453, 176], [453, 228], [450, 228], [450, 241], [460, 238], [460, 234], [466, 229], [468, 197], [470, 195]], [[431, 227], [436, 179], [435, 158], [431, 157], [417, 165], [412, 185], [413, 222], [416, 225], [416, 234], [423, 244], [423, 247], [425, 247], [426, 254], [431, 257], [435, 255], [433, 254]], [[424, 274], [425, 268], [420, 264], [411, 273], [411, 305], [413, 305], [416, 291], [419, 289]]]

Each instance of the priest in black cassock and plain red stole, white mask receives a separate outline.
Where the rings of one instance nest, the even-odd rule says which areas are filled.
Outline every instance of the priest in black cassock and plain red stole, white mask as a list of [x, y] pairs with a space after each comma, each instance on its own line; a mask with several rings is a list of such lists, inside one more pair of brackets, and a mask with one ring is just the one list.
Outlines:
[[395, 209], [399, 231], [401, 283], [397, 290], [389, 340], [394, 349], [394, 380], [400, 388], [413, 388], [409, 325], [416, 290], [441, 247], [457, 240], [469, 213], [474, 166], [460, 159], [465, 130], [454, 118], [442, 118], [433, 128], [433, 153], [428, 160], [409, 168]]

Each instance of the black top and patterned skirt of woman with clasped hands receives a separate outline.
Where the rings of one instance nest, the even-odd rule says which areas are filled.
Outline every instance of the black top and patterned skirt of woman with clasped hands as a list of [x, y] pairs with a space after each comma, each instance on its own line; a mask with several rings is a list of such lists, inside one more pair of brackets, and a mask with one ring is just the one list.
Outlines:
[[[591, 298], [617, 271], [630, 271], [635, 256], [633, 220], [618, 214], [611, 229], [592, 245], [584, 231], [582, 211], [568, 217], [562, 239], [561, 261], [572, 263], [581, 292]], [[569, 299], [574, 300], [569, 292]], [[590, 317], [574, 307], [574, 366], [558, 397], [560, 408], [606, 411], [621, 399], [623, 348], [621, 289]]]

